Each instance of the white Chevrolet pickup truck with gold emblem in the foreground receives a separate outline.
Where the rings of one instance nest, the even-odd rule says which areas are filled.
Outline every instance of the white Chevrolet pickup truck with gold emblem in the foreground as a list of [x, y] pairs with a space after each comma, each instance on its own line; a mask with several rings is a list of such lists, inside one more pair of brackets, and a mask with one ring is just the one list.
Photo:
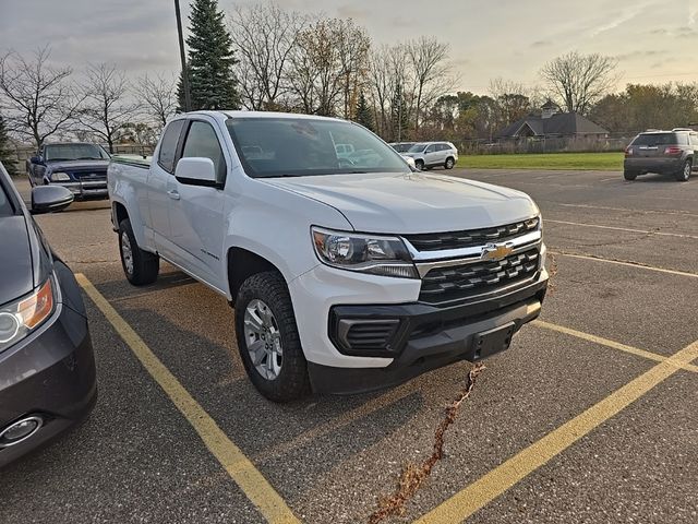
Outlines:
[[152, 284], [164, 259], [225, 296], [246, 372], [273, 401], [483, 359], [545, 296], [528, 195], [414, 171], [344, 120], [180, 115], [149, 165], [112, 160], [108, 187], [127, 278]]

